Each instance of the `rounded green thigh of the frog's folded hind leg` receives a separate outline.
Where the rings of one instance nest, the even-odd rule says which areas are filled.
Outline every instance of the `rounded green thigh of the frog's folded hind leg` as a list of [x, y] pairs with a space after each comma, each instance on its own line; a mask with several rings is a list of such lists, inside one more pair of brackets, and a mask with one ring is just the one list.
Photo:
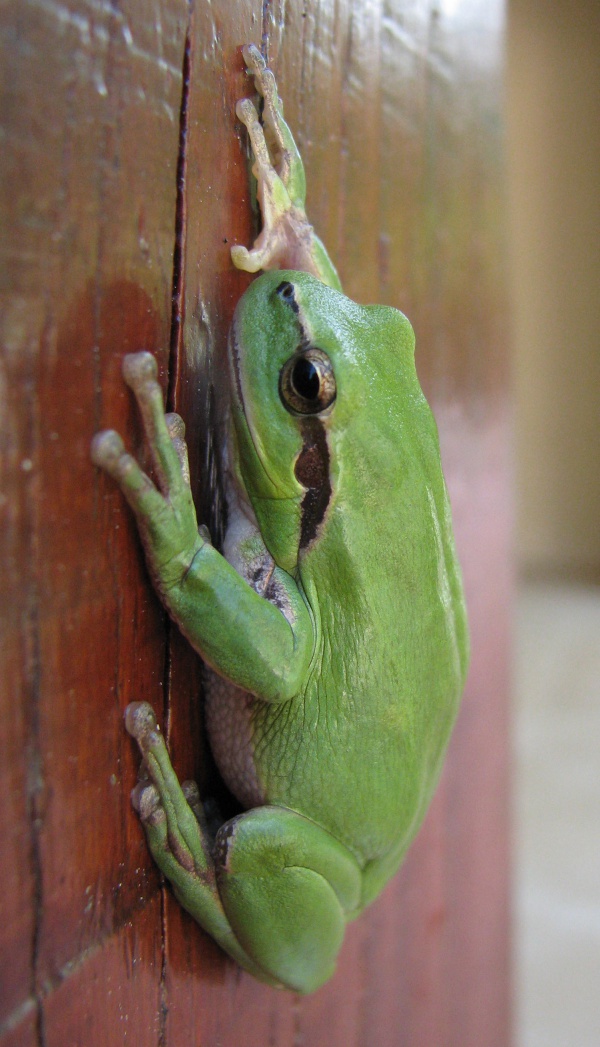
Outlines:
[[354, 856], [314, 822], [270, 806], [222, 826], [215, 857], [219, 893], [243, 948], [290, 988], [318, 988], [359, 904]]

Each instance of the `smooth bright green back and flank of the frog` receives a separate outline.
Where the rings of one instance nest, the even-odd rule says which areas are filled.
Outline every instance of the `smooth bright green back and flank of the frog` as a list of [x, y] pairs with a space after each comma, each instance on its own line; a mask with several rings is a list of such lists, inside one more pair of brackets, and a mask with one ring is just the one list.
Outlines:
[[310, 678], [289, 708], [253, 711], [268, 801], [314, 818], [364, 861], [416, 832], [468, 656], [437, 429], [416, 377], [409, 392], [383, 431], [366, 419], [361, 435], [359, 419], [343, 433], [343, 469], [301, 557], [316, 623]]

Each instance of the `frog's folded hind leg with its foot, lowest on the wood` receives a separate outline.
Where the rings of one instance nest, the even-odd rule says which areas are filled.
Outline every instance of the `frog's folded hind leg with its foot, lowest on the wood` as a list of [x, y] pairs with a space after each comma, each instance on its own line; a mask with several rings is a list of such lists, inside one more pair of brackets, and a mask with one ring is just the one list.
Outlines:
[[276, 806], [239, 815], [212, 842], [150, 706], [130, 706], [126, 723], [153, 781], [137, 787], [136, 806], [181, 905], [254, 977], [298, 993], [318, 988], [360, 904], [354, 856], [310, 819]]

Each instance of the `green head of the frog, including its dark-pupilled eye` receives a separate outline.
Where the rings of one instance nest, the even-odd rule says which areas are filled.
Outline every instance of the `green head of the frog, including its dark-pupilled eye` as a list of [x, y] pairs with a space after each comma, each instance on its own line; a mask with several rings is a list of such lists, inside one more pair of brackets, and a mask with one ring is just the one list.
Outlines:
[[318, 537], [340, 472], [354, 468], [352, 435], [368, 456], [387, 452], [378, 419], [393, 409], [400, 356], [414, 376], [413, 351], [402, 313], [358, 306], [308, 273], [264, 273], [238, 304], [229, 337], [237, 467], [284, 570], [293, 572]]

